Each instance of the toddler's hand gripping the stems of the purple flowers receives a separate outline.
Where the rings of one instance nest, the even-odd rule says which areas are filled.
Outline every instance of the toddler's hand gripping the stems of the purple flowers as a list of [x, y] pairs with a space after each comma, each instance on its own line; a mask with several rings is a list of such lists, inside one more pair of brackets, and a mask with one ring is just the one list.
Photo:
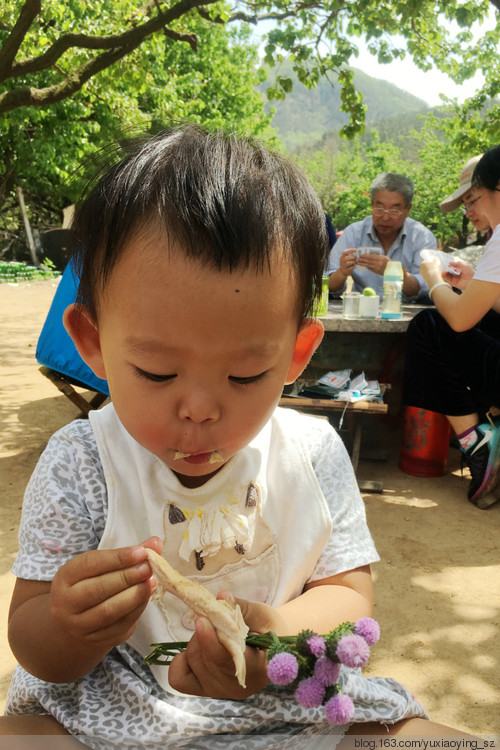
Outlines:
[[[234, 601], [227, 592], [221, 592], [218, 598]], [[275, 629], [272, 607], [245, 599], [236, 601], [251, 631], [264, 633]], [[246, 688], [242, 688], [235, 677], [231, 654], [218, 640], [210, 622], [205, 617], [198, 617], [195, 634], [186, 651], [173, 659], [168, 679], [172, 687], [181, 693], [242, 700], [269, 683], [265, 651], [247, 646], [245, 660]]]

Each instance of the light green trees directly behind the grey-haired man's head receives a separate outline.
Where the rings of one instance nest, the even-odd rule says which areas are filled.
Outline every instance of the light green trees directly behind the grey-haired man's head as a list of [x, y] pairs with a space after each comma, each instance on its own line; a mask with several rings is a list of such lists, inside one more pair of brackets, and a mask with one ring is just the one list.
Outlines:
[[492, 144], [487, 142], [478, 118], [474, 141], [457, 139], [460, 114], [453, 107], [443, 108], [439, 115], [421, 117], [422, 128], [406, 136], [412, 147], [416, 144], [416, 159], [402, 158], [404, 142], [402, 147], [381, 142], [376, 129], [370, 131], [369, 139], [356, 136], [351, 142], [330, 140], [328, 147], [323, 144], [320, 150], [295, 157], [337, 229], [370, 213], [370, 184], [380, 172], [399, 172], [415, 186], [412, 218], [432, 229], [443, 246], [465, 244], [473, 227], [459, 210], [444, 213], [439, 204], [457, 188], [465, 162]]

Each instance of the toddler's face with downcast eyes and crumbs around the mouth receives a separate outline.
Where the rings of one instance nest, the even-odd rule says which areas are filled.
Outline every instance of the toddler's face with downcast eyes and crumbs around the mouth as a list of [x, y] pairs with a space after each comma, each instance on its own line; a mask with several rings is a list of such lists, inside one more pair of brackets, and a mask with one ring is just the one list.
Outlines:
[[186, 486], [248, 444], [302, 369], [295, 294], [284, 263], [218, 272], [157, 238], [132, 240], [113, 270], [98, 323], [113, 403]]

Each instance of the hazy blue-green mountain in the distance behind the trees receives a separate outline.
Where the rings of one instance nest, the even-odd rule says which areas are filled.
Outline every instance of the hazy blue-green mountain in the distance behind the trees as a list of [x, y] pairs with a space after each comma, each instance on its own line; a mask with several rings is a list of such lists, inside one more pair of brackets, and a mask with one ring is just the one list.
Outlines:
[[[367, 125], [390, 122], [394, 118], [399, 127], [401, 121], [407, 120], [409, 130], [415, 127], [417, 114], [430, 111], [428, 104], [413, 94], [387, 81], [372, 78], [357, 68], [353, 70], [354, 85], [363, 94], [367, 107]], [[308, 89], [297, 79], [290, 63], [284, 63], [279, 74], [292, 78], [293, 89], [285, 101], [273, 101], [268, 106], [276, 110], [272, 124], [286, 145], [297, 144], [306, 136], [309, 140], [320, 139], [327, 132], [340, 130], [348, 122], [348, 116], [340, 110], [340, 86], [336, 81], [332, 85], [322, 78], [316, 88]], [[267, 85], [263, 84], [263, 91]]]

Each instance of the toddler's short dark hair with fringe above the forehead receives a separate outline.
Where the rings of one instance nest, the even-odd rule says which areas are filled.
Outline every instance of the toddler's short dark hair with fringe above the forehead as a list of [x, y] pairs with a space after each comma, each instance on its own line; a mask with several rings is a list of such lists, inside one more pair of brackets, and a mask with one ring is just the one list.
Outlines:
[[72, 226], [78, 302], [94, 316], [127, 241], [149, 226], [219, 270], [263, 269], [283, 253], [297, 283], [297, 314], [309, 314], [328, 236], [318, 198], [289, 160], [250, 138], [193, 125], [129, 139], [106, 156]]

